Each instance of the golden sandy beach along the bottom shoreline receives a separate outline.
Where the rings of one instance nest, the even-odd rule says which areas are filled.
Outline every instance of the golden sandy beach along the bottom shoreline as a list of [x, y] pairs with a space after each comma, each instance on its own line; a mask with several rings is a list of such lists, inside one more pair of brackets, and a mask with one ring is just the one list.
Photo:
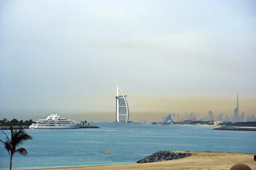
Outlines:
[[[172, 151], [180, 152], [183, 151]], [[247, 164], [252, 170], [256, 170], [255, 154], [245, 153], [218, 153], [218, 152], [187, 152], [195, 155], [171, 161], [160, 161], [145, 164], [104, 165], [90, 167], [62, 167], [44, 168], [47, 170], [230, 170], [237, 163]], [[43, 170], [43, 169], [36, 169]]]

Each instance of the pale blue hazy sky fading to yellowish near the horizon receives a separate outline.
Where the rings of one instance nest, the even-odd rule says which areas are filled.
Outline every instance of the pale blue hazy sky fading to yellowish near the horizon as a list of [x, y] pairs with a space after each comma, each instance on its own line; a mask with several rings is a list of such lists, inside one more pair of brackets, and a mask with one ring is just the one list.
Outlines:
[[254, 0], [0, 0], [0, 118], [55, 109], [114, 121], [117, 80], [133, 120], [232, 115], [237, 91], [239, 111], [254, 114], [255, 9]]

